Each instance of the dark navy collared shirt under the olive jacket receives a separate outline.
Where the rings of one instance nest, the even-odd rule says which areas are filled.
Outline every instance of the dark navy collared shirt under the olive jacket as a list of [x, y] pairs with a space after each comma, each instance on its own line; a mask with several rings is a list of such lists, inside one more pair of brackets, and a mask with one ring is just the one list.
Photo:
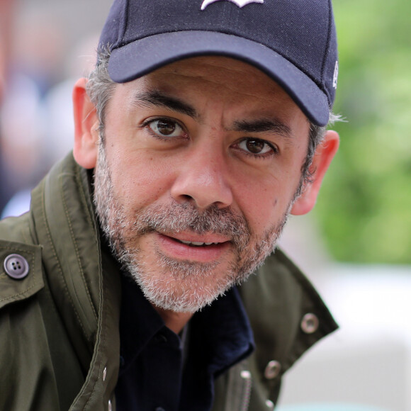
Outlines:
[[122, 289], [117, 410], [210, 410], [214, 379], [254, 349], [237, 288], [193, 315], [182, 337], [126, 275]]

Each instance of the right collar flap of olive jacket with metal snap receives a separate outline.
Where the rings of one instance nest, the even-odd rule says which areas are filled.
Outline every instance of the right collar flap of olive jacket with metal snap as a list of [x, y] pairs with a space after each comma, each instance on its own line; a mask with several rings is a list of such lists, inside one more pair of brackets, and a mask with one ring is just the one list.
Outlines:
[[308, 278], [280, 249], [240, 287], [240, 293], [254, 331], [259, 370], [264, 375], [268, 364], [278, 364], [272, 383], [338, 328]]

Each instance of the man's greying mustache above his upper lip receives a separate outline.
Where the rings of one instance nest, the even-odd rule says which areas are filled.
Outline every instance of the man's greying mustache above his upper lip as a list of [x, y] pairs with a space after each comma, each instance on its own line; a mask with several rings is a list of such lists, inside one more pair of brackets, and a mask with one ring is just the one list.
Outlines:
[[247, 220], [230, 208], [211, 205], [201, 213], [191, 203], [150, 205], [136, 213], [131, 227], [135, 235], [150, 232], [192, 231], [224, 235], [240, 249], [247, 247], [252, 232]]

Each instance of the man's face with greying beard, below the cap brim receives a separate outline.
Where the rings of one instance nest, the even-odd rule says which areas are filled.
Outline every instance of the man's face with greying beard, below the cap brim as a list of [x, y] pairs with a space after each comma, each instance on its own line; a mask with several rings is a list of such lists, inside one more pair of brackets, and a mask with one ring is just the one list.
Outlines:
[[146, 297], [194, 312], [272, 251], [300, 186], [309, 123], [254, 67], [170, 64], [116, 86], [95, 200]]

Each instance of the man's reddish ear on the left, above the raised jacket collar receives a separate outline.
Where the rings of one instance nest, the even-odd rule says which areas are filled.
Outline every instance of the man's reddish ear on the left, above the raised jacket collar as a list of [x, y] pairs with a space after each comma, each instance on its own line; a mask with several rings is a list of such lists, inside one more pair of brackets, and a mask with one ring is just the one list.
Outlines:
[[85, 169], [96, 167], [98, 125], [96, 108], [86, 93], [86, 79], [79, 79], [73, 89], [74, 159]]

